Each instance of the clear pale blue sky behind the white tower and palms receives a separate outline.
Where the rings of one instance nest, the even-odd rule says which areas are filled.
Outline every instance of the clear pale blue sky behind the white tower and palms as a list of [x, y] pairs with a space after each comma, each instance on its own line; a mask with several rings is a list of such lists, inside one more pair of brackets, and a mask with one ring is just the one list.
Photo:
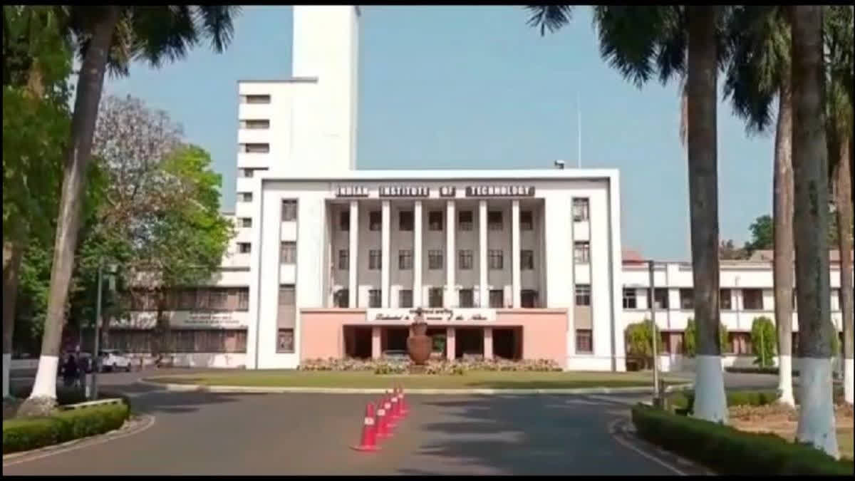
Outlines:
[[[621, 171], [622, 241], [646, 256], [689, 258], [686, 154], [676, 83], [641, 90], [599, 57], [590, 8], [554, 34], [526, 25], [520, 7], [368, 6], [360, 32], [357, 167], [538, 168], [576, 161]], [[232, 210], [239, 79], [291, 74], [292, 9], [245, 7], [233, 45], [207, 45], [158, 70], [135, 65], [106, 92], [167, 110], [207, 149]], [[721, 81], [720, 81], [721, 83]], [[745, 241], [771, 211], [772, 138], [747, 137], [720, 104], [722, 238]]]

